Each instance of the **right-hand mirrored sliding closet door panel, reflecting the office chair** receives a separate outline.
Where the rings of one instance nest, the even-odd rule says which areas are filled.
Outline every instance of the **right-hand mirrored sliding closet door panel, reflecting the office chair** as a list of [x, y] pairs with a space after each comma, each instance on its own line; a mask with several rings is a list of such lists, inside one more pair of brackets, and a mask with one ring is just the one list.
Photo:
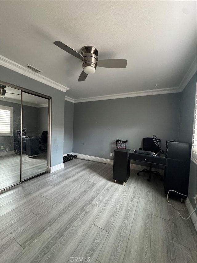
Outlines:
[[22, 180], [47, 171], [48, 100], [22, 92]]

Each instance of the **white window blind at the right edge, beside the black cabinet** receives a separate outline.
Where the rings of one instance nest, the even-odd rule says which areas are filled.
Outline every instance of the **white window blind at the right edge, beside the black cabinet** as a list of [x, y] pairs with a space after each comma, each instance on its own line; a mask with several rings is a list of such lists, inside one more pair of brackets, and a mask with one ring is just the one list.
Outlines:
[[194, 132], [191, 148], [191, 160], [197, 164], [197, 84], [195, 94], [195, 110], [194, 110]]

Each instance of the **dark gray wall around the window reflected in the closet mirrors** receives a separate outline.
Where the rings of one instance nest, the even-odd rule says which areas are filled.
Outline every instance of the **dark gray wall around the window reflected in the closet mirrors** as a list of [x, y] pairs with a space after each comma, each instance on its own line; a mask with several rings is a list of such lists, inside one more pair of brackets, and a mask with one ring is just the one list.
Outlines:
[[[9, 106], [13, 109], [13, 131], [21, 129], [21, 104], [0, 100], [0, 105]], [[23, 128], [26, 128], [26, 136], [38, 135], [38, 108], [23, 105]], [[14, 135], [14, 134], [13, 134]], [[14, 150], [14, 136], [0, 136], [0, 146]]]

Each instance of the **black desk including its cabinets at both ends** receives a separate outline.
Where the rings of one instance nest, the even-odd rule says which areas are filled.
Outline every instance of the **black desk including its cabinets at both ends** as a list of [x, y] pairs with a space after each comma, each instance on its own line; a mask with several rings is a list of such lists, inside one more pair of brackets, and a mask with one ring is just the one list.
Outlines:
[[[125, 183], [130, 176], [130, 161], [147, 162], [165, 166], [164, 172], [164, 191], [175, 190], [184, 195], [178, 195], [181, 199], [187, 198], [189, 182], [189, 163], [188, 158], [179, 160], [166, 158], [164, 154], [151, 156], [147, 154], [137, 154], [134, 150], [116, 149], [114, 151], [113, 179]], [[172, 193], [172, 192], [171, 192]]]

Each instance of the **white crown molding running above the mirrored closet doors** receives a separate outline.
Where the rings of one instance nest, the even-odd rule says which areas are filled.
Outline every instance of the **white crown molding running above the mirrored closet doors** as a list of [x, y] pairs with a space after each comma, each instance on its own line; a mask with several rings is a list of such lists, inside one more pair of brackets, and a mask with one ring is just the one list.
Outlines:
[[18, 72], [22, 75], [25, 75], [27, 77], [30, 77], [34, 80], [37, 80], [39, 82], [42, 82], [46, 85], [49, 85], [50, 87], [53, 87], [53, 88], [56, 88], [58, 90], [61, 90], [63, 92], [66, 92], [66, 90], [68, 90], [69, 88], [53, 81], [53, 80], [50, 80], [48, 78], [46, 78], [45, 76], [42, 76], [38, 73], [35, 73], [33, 71], [30, 71], [30, 69], [28, 68], [24, 68], [22, 65], [12, 61], [12, 60], [9, 60], [8, 58], [0, 55], [0, 65], [5, 67], [5, 68], [9, 68], [11, 70], [14, 70], [15, 72]]

